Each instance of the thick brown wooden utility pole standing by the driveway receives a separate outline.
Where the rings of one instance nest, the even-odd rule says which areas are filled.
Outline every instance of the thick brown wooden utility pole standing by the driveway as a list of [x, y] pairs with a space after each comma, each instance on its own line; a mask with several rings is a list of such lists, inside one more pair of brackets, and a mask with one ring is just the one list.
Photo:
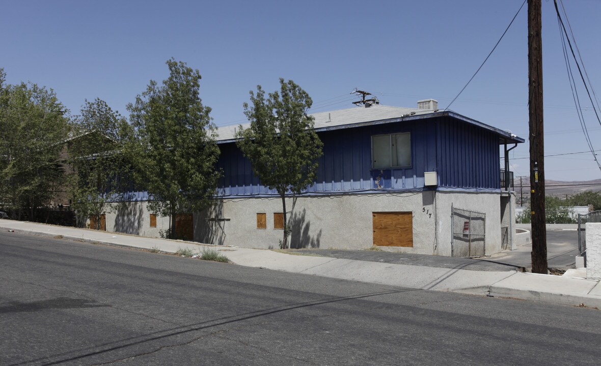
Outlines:
[[547, 274], [541, 0], [528, 0], [528, 116], [532, 273]]

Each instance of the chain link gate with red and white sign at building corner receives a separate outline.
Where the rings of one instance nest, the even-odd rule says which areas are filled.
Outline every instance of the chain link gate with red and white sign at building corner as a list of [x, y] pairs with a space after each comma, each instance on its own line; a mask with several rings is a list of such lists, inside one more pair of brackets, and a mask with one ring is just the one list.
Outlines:
[[451, 205], [451, 256], [483, 257], [486, 245], [486, 214]]

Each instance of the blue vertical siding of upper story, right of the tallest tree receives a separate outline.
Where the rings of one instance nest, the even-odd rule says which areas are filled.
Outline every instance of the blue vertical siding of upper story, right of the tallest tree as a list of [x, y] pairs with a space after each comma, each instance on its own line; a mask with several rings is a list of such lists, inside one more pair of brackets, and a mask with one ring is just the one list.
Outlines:
[[[371, 169], [371, 136], [411, 134], [410, 167]], [[421, 119], [319, 133], [323, 155], [308, 192], [424, 188], [424, 172], [438, 172], [439, 187], [499, 189], [498, 136], [453, 118]], [[219, 144], [219, 191], [225, 196], [275, 194], [252, 172], [235, 143]]]

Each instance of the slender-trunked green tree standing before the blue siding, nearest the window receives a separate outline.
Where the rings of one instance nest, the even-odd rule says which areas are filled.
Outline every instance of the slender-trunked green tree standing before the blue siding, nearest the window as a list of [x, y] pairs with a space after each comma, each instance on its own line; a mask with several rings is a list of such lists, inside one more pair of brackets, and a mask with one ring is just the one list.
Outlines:
[[251, 161], [252, 170], [270, 190], [275, 189], [282, 200], [284, 239], [287, 248], [290, 228], [287, 224], [285, 196], [295, 196], [316, 179], [317, 158], [323, 143], [313, 130], [313, 117], [307, 115], [313, 101], [292, 80], [279, 79], [280, 91], [265, 93], [260, 85], [256, 94], [250, 92], [252, 106], [244, 103], [245, 115], [251, 121], [248, 128], [240, 126], [237, 146]]

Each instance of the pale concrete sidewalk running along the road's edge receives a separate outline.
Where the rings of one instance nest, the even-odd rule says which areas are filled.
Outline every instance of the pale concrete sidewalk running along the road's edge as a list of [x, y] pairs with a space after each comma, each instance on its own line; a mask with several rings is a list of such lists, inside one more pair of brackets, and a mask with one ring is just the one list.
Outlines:
[[[515, 271], [511, 266], [492, 267], [498, 263], [491, 263], [490, 268], [482, 268], [482, 265], [474, 266], [472, 260], [436, 256], [429, 256], [429, 260], [406, 260], [410, 257], [404, 256], [402, 261], [382, 259], [376, 262], [373, 260], [374, 254], [370, 251], [355, 251], [353, 256], [346, 257], [342, 253], [338, 254], [339, 257], [315, 256], [316, 251], [310, 251], [308, 253], [310, 255], [293, 255], [303, 253], [294, 251], [293, 254], [287, 254], [272, 250], [204, 245], [2, 219], [0, 219], [0, 230], [99, 242], [121, 247], [156, 249], [167, 253], [175, 253], [183, 248], [201, 251], [203, 248], [212, 247], [222, 251], [231, 262], [243, 266], [414, 289], [518, 298], [563, 305], [584, 304], [588, 307], [601, 308], [599, 281], [522, 273]], [[389, 254], [394, 255], [394, 253]], [[399, 255], [401, 256], [401, 254]], [[365, 258], [361, 259], [362, 256]]]

